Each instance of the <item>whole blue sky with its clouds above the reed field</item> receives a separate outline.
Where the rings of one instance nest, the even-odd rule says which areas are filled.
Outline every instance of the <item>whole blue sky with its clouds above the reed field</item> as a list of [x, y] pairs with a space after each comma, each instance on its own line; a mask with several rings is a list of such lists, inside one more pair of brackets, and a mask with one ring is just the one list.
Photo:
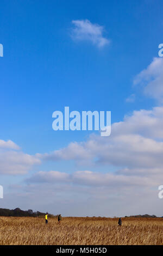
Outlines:
[[[2, 207], [161, 215], [162, 7], [161, 0], [1, 1]], [[52, 113], [65, 106], [111, 111], [111, 136], [53, 131]]]

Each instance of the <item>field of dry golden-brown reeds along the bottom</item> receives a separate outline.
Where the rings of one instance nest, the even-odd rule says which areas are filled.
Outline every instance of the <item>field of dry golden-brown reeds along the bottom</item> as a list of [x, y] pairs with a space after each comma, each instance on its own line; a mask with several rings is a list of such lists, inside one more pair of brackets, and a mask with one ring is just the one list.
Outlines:
[[0, 217], [0, 245], [163, 245], [163, 218]]

